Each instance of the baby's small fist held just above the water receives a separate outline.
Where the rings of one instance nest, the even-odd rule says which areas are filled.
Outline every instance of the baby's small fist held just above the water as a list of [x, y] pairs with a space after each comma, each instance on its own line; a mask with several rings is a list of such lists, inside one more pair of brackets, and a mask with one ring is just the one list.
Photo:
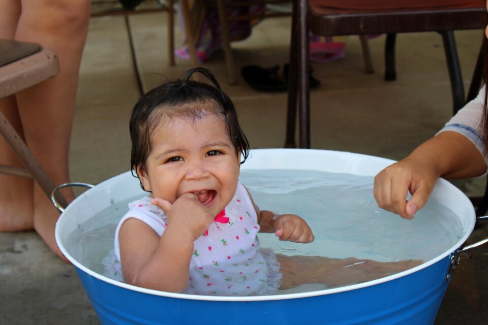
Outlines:
[[315, 237], [305, 220], [294, 214], [278, 215], [273, 223], [275, 235], [280, 240], [295, 243], [311, 243]]

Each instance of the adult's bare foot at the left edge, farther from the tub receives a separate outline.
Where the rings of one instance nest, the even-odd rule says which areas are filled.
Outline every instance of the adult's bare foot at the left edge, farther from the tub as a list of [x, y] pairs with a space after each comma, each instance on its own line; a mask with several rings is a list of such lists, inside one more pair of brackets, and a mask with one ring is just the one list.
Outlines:
[[0, 232], [34, 229], [32, 179], [0, 175]]

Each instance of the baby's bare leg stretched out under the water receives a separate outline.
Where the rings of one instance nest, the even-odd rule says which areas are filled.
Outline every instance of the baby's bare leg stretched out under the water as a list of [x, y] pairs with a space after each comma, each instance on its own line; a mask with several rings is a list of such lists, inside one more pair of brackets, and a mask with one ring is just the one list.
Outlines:
[[371, 259], [328, 258], [323, 256], [287, 256], [277, 254], [283, 274], [280, 289], [306, 283], [323, 283], [329, 287], [371, 281], [411, 269], [421, 261], [376, 262]]

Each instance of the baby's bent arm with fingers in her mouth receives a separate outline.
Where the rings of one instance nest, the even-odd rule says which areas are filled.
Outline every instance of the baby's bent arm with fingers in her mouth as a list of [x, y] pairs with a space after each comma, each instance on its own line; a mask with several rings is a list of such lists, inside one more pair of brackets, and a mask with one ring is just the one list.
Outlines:
[[161, 237], [138, 219], [120, 228], [120, 262], [127, 283], [168, 292], [185, 290], [188, 284], [193, 242], [213, 220], [194, 194], [184, 194], [173, 204], [154, 199], [167, 215]]

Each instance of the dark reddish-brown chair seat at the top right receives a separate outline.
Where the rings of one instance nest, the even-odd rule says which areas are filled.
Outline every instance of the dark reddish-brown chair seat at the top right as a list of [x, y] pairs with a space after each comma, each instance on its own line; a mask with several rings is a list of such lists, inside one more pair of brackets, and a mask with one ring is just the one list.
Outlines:
[[443, 1], [442, 5], [438, 0], [310, 0], [309, 10], [310, 29], [314, 34], [323, 36], [445, 31], [486, 26], [486, 7], [479, 0], [448, 0]]

